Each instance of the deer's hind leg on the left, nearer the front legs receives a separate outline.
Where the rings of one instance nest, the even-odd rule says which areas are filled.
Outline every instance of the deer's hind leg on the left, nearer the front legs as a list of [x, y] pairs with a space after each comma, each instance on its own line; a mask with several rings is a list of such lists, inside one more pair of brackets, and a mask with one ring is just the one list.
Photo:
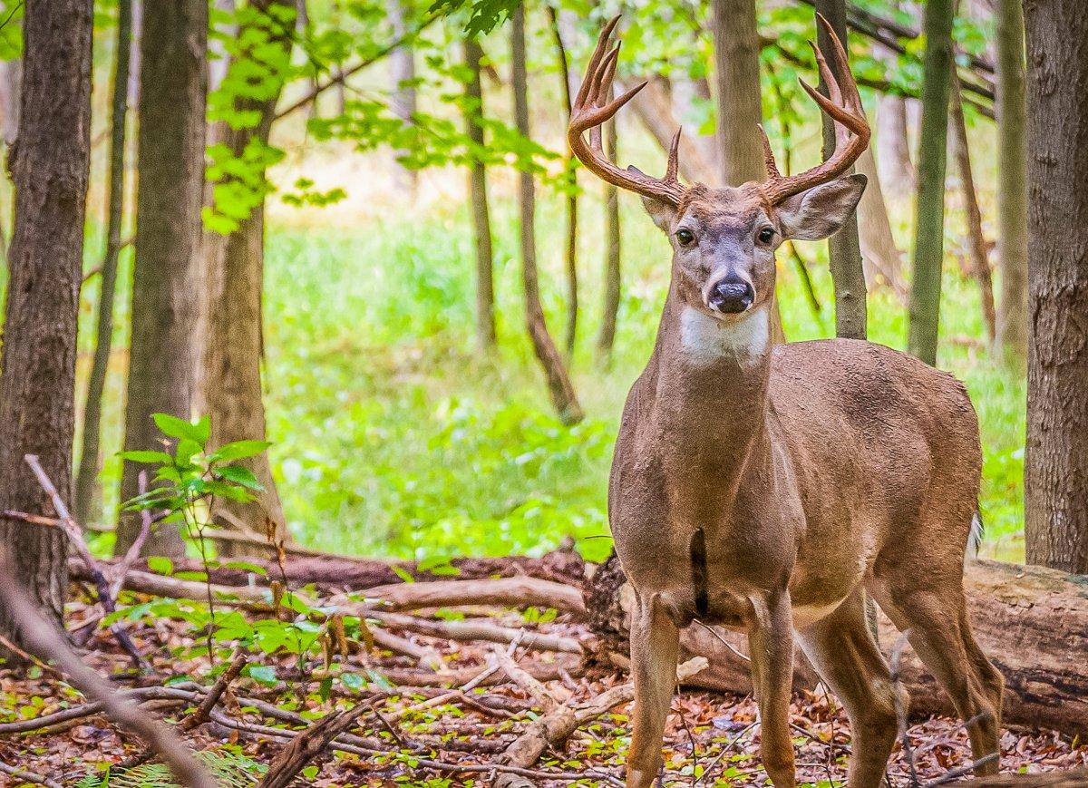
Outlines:
[[[850, 788], [877, 788], [895, 743], [897, 689], [869, 631], [862, 589], [855, 589], [831, 615], [799, 630], [798, 637], [850, 717]], [[905, 712], [905, 693], [900, 701]]]

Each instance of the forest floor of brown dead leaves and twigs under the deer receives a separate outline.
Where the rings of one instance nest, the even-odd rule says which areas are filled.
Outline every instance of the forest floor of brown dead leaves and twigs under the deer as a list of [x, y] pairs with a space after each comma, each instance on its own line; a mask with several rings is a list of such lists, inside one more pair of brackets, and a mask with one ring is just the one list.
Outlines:
[[[154, 602], [134, 596], [125, 601], [135, 605], [129, 611], [140, 610], [141, 602]], [[147, 604], [143, 610], [147, 611]], [[77, 628], [89, 615], [87, 603], [70, 605], [70, 628]], [[567, 614], [543, 620], [549, 617], [507, 610], [482, 620], [517, 628], [526, 642], [532, 633], [576, 640], [590, 637], [585, 627]], [[449, 620], [448, 612], [434, 620]], [[125, 654], [102, 628], [87, 643], [85, 660], [141, 700], [145, 709], [172, 721], [173, 729], [180, 731], [181, 721], [194, 713], [224, 661], [212, 670], [207, 654], [185, 658], [186, 653], [199, 653], [202, 638], [194, 639], [198, 630], [180, 617], [148, 615], [126, 620], [126, 628], [148, 660], [149, 670], [134, 674]], [[441, 672], [422, 667], [418, 656], [374, 645], [367, 636], [351, 641], [350, 653], [331, 660], [320, 655], [321, 649], [317, 655], [308, 649], [284, 656], [257, 651], [247, 657], [243, 675], [213, 707], [211, 719], [185, 732], [185, 740], [217, 772], [221, 785], [240, 788], [254, 785], [285, 742], [310, 721], [366, 703], [368, 712], [359, 717], [354, 734], [338, 740], [347, 743], [337, 747], [350, 752], [327, 750], [302, 772], [297, 785], [490, 785], [504, 768], [499, 765], [507, 758], [504, 753], [534, 721], [548, 713], [549, 706], [552, 711], [592, 706], [606, 690], [627, 681], [625, 675], [585, 663], [582, 657], [527, 648], [517, 640], [509, 645], [454, 642], [388, 629], [387, 636], [400, 639], [399, 644], [394, 643], [398, 651], [415, 647], [431, 657], [437, 652], [441, 665], [432, 664]], [[511, 680], [503, 667], [509, 665], [504, 662], [506, 656], [540, 677], [543, 689], [523, 676]], [[614, 694], [616, 691], [621, 692], [614, 690]], [[85, 713], [65, 711], [78, 709]], [[524, 776], [541, 787], [621, 786], [621, 764], [630, 741], [629, 711], [629, 703], [620, 703], [586, 721], [565, 747], [546, 750]], [[46, 729], [25, 722], [57, 713], [66, 719]], [[799, 783], [820, 788], [844, 786], [850, 734], [842, 710], [827, 693], [817, 691], [794, 699], [792, 724]], [[36, 729], [20, 732], [23, 728]], [[956, 721], [918, 722], [908, 728], [907, 740], [913, 755], [908, 756], [900, 742], [889, 763], [892, 786], [935, 785], [970, 761], [967, 737]], [[675, 699], [669, 716], [663, 785], [766, 785], [758, 747], [751, 698], [684, 691]], [[1088, 744], [1071, 743], [1048, 732], [1006, 731], [1002, 750], [1002, 771], [1043, 772], [1088, 764]], [[127, 772], [116, 767], [140, 752], [138, 739], [95, 713], [49, 669], [34, 667], [29, 677], [0, 669], [0, 764], [9, 767], [9, 775], [0, 773], [0, 785], [171, 785], [165, 768], [153, 761]], [[912, 758], [916, 777], [911, 775]], [[11, 776], [12, 767], [37, 777]]]

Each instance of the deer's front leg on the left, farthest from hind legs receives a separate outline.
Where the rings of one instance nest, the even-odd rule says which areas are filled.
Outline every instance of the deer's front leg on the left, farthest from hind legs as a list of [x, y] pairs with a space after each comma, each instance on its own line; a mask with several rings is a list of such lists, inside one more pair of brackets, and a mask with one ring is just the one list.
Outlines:
[[680, 630], [665, 614], [658, 594], [639, 594], [631, 621], [634, 731], [627, 756], [627, 788], [647, 788], [657, 776], [679, 652]]

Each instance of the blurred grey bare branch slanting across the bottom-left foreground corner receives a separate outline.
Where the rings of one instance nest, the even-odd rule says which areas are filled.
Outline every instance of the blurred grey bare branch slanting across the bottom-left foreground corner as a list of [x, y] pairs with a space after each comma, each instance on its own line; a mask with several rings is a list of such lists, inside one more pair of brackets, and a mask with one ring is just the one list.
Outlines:
[[111, 719], [144, 739], [170, 766], [180, 785], [185, 788], [217, 788], [214, 780], [193, 753], [166, 726], [141, 712], [134, 703], [120, 698], [106, 679], [83, 664], [61, 632], [39, 615], [34, 603], [15, 586], [12, 578], [7, 556], [0, 554], [0, 599], [18, 621], [23, 639], [30, 651], [53, 660], [69, 677], [69, 684], [98, 701]]

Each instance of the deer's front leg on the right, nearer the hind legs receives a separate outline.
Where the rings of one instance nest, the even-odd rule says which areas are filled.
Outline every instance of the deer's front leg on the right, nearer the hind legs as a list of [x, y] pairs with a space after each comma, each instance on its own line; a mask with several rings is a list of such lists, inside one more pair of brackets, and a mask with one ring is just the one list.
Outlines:
[[793, 788], [790, 698], [793, 687], [793, 614], [790, 593], [752, 596], [749, 627], [752, 686], [759, 704], [759, 754], [775, 788]]

